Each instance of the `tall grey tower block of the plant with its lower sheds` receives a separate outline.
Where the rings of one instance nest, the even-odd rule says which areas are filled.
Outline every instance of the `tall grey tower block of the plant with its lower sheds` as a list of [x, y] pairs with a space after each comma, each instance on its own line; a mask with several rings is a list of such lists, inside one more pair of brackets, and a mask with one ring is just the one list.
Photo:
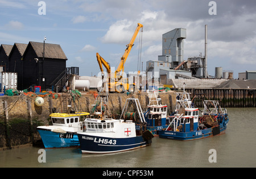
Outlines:
[[162, 35], [162, 55], [158, 60], [149, 60], [146, 63], [146, 73], [152, 73], [154, 78], [158, 78], [163, 85], [169, 84], [169, 79], [190, 78], [191, 71], [177, 70], [184, 61], [183, 48], [186, 38], [185, 28], [175, 28]]

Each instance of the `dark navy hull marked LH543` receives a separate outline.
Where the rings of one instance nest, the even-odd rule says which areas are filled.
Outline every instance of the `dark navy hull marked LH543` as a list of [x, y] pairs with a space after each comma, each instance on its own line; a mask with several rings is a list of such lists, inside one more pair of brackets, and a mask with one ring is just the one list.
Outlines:
[[77, 134], [82, 153], [114, 153], [146, 147], [151, 144], [142, 136], [131, 138], [107, 138], [86, 134]]

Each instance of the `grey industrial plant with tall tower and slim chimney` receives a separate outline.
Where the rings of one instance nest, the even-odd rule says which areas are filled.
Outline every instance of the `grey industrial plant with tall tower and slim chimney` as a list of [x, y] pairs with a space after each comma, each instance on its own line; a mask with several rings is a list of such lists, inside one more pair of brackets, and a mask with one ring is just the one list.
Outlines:
[[[207, 25], [205, 25], [204, 55], [191, 56], [184, 60], [184, 39], [186, 38], [185, 28], [175, 28], [163, 34], [162, 55], [158, 56], [158, 61], [147, 61], [146, 72], [152, 72], [152, 76], [158, 78], [162, 85], [173, 85], [176, 88], [181, 87], [180, 84], [183, 82], [179, 81], [184, 79], [191, 80], [191, 84], [189, 80], [185, 80], [188, 86], [204, 86], [204, 88], [212, 88], [225, 79], [233, 79], [233, 71], [223, 70], [221, 66], [215, 68], [214, 76], [210, 76], [207, 72]], [[254, 73], [251, 72], [248, 75], [253, 78]], [[203, 79], [204, 82], [200, 81]]]

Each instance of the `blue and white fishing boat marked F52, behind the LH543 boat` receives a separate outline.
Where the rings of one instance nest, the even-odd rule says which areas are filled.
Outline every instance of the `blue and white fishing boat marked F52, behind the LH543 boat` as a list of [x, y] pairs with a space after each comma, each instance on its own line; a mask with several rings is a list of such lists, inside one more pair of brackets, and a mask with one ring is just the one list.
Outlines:
[[[167, 121], [167, 105], [162, 105], [161, 98], [156, 97], [155, 91], [148, 95], [149, 102], [147, 111], [144, 113], [144, 118], [147, 122], [147, 130], [150, 130], [153, 135], [157, 135], [156, 131], [168, 127]], [[140, 125], [137, 125], [139, 130]]]

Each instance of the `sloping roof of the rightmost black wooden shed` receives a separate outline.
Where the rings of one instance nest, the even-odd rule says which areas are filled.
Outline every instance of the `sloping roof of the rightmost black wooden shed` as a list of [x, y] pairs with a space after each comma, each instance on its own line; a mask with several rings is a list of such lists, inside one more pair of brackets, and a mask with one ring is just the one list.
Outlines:
[[[48, 43], [40, 43], [35, 41], [30, 41], [27, 45], [26, 51], [29, 47], [29, 45], [32, 46], [34, 49], [36, 55], [38, 57], [43, 57], [43, 49], [44, 49], [44, 57], [49, 59], [64, 59], [68, 60], [67, 56], [63, 52], [62, 48], [59, 44], [48, 44]], [[24, 55], [26, 54], [26, 51], [24, 52]]]

